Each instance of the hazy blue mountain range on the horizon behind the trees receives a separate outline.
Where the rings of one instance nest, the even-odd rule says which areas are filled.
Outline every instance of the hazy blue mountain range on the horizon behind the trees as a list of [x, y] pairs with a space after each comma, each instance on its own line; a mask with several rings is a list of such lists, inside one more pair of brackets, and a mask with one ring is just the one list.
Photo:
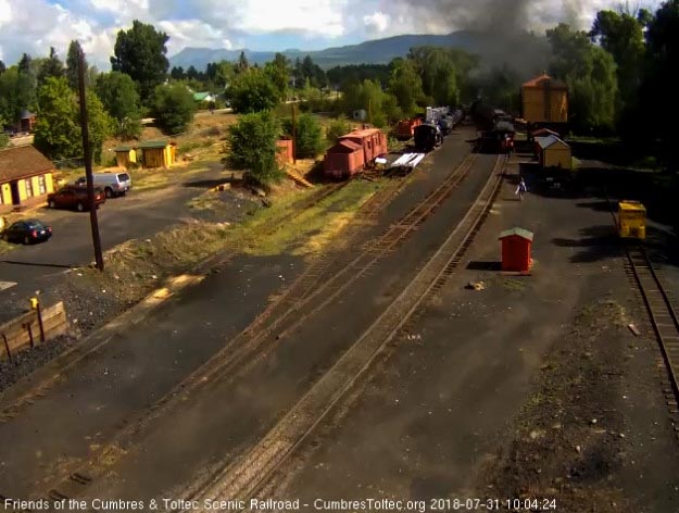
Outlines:
[[[311, 55], [314, 63], [323, 68], [349, 64], [388, 64], [397, 57], [405, 57], [411, 48], [435, 46], [458, 48], [481, 57], [487, 66], [507, 64], [528, 75], [544, 68], [548, 59], [548, 45], [543, 37], [533, 34], [499, 34], [492, 32], [458, 30], [447, 35], [405, 35], [386, 39], [374, 39], [359, 45], [327, 48], [318, 51], [285, 50], [280, 53], [288, 59], [304, 59]], [[209, 63], [238, 60], [243, 51], [251, 63], [263, 64], [274, 59], [274, 51], [250, 51], [248, 49], [227, 50], [187, 47], [169, 58], [171, 66], [187, 70], [193, 66], [205, 70]]]

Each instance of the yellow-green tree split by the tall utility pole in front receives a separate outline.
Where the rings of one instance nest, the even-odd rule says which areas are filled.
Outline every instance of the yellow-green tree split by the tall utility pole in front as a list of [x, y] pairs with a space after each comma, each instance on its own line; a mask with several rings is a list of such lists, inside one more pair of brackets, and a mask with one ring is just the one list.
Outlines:
[[[87, 91], [86, 101], [92, 157], [99, 162], [103, 141], [111, 134], [112, 122], [92, 91]], [[50, 159], [83, 155], [78, 98], [65, 77], [48, 77], [38, 91], [34, 145]]]

